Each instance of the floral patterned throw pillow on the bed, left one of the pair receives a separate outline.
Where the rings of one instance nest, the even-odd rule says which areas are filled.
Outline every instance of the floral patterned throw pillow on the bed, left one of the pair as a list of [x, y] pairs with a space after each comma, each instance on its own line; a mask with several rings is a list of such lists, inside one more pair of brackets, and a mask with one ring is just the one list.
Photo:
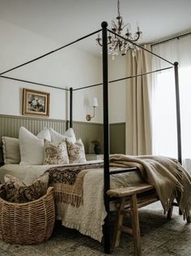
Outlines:
[[66, 141], [58, 145], [50, 141], [44, 141], [44, 164], [65, 164], [69, 163]]

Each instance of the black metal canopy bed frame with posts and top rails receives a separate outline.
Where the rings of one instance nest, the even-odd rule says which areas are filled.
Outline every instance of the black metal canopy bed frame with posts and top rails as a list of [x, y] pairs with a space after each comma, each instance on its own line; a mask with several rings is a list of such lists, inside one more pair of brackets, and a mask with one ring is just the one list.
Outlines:
[[[87, 36], [84, 37], [80, 37], [79, 39], [70, 42], [69, 44], [66, 44], [65, 46], [59, 47], [56, 50], [52, 50], [46, 54], [43, 54], [41, 56], [39, 56], [36, 59], [32, 59], [26, 63], [20, 64], [19, 66], [16, 67], [12, 67], [4, 72], [0, 73], [0, 77], [5, 78], [5, 79], [9, 79], [9, 80], [18, 80], [18, 81], [22, 81], [25, 83], [29, 83], [29, 84], [33, 84], [33, 85], [40, 85], [40, 86], [45, 86], [45, 87], [49, 87], [49, 88], [53, 88], [53, 89], [62, 89], [62, 90], [66, 90], [70, 92], [70, 128], [72, 128], [73, 126], [73, 92], [77, 91], [79, 89], [87, 89], [90, 87], [94, 87], [94, 86], [99, 86], [99, 85], [103, 85], [103, 103], [104, 103], [104, 108], [103, 108], [103, 114], [104, 114], [104, 205], [105, 205], [105, 209], [107, 211], [107, 216], [104, 219], [104, 253], [105, 254], [110, 254], [111, 250], [110, 250], [110, 210], [109, 210], [109, 202], [110, 202], [110, 197], [108, 197], [107, 195], [107, 191], [108, 189], [110, 189], [110, 175], [115, 174], [115, 173], [120, 173], [120, 172], [127, 172], [127, 171], [134, 171], [137, 170], [137, 168], [125, 168], [122, 169], [120, 171], [109, 171], [109, 123], [108, 123], [108, 84], [109, 83], [113, 83], [113, 82], [117, 82], [119, 80], [127, 80], [129, 78], [132, 77], [137, 77], [137, 76], [145, 76], [147, 74], [151, 74], [153, 72], [161, 72], [163, 70], [167, 70], [170, 68], [174, 67], [174, 76], [175, 76], [175, 89], [176, 89], [176, 127], [177, 127], [177, 155], [178, 155], [178, 161], [181, 163], [182, 162], [182, 158], [181, 158], [181, 131], [180, 131], [180, 94], [179, 94], [179, 78], [178, 78], [178, 63], [171, 63], [170, 61], [168, 61], [167, 59], [163, 59], [162, 57], [160, 57], [158, 54], [155, 54], [153, 52], [151, 52], [150, 50], [146, 50], [145, 48], [143, 48], [142, 46], [137, 45], [136, 43], [134, 43], [134, 41], [130, 41], [129, 39], [126, 39], [125, 37], [121, 37], [120, 35], [113, 33], [111, 30], [109, 30], [108, 24], [107, 22], [103, 21], [101, 24], [101, 29], [97, 30], [94, 33], [90, 33]], [[30, 80], [21, 80], [21, 79], [17, 79], [14, 77], [10, 77], [10, 76], [3, 76], [4, 74], [6, 74], [7, 72], [11, 72], [19, 67], [23, 67], [25, 65], [27, 65], [28, 63], [32, 63], [35, 62], [38, 59], [42, 59], [45, 58], [45, 56], [48, 56], [49, 54], [53, 54], [58, 50], [62, 50], [63, 48], [66, 48], [67, 46], [71, 46], [74, 43], [81, 41], [87, 37], [91, 37], [92, 35], [99, 33], [100, 31], [102, 31], [102, 64], [103, 64], [103, 82], [96, 84], [96, 85], [87, 85], [87, 86], [83, 86], [80, 88], [76, 88], [73, 89], [72, 87], [70, 87], [70, 89], [64, 89], [62, 87], [57, 87], [57, 86], [53, 86], [53, 85], [45, 85], [45, 84], [41, 84], [41, 83], [37, 83], [37, 82], [33, 82]], [[163, 59], [163, 61], [171, 64], [171, 67], [166, 67], [166, 68], [162, 68], [159, 70], [155, 70], [155, 71], [151, 71], [151, 72], [146, 72], [146, 73], [142, 73], [142, 74], [138, 74], [135, 76], [128, 76], [128, 77], [123, 77], [121, 79], [117, 79], [117, 80], [108, 80], [108, 32], [112, 33], [114, 35], [116, 35], [117, 37], [121, 37], [121, 39], [129, 41], [129, 43], [133, 44], [134, 46], [138, 46], [139, 48], [141, 48], [142, 50], [146, 50], [147, 52], [149, 52], [152, 55], [155, 55], [156, 57], [158, 57], [159, 59]]]

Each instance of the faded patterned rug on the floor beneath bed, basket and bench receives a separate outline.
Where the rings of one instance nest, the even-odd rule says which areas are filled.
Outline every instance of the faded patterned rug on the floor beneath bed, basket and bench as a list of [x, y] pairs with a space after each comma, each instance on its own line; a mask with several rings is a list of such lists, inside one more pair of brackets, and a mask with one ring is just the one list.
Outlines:
[[[114, 215], [112, 219], [114, 220]], [[143, 256], [190, 256], [191, 223], [187, 224], [178, 209], [167, 220], [159, 202], [139, 210]], [[113, 223], [113, 222], [112, 222]], [[103, 256], [103, 245], [57, 222], [53, 236], [40, 245], [10, 245], [0, 241], [1, 256]], [[122, 234], [121, 244], [112, 256], [134, 255], [132, 236]]]

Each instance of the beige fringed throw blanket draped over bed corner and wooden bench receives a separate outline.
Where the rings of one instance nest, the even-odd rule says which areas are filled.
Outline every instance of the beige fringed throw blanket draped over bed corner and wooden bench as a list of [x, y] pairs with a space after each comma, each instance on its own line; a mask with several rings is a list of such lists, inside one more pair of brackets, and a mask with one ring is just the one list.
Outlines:
[[159, 200], [166, 212], [174, 199], [184, 219], [191, 210], [191, 176], [174, 158], [163, 156], [129, 156], [115, 154], [110, 157], [115, 167], [138, 167], [143, 179], [155, 187]]

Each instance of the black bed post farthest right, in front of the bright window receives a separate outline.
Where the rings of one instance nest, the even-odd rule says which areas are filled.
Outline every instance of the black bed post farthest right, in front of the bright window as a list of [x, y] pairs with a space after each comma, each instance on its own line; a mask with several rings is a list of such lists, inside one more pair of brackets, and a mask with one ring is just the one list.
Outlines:
[[176, 125], [177, 125], [177, 150], [178, 161], [182, 163], [181, 156], [181, 129], [180, 129], [180, 93], [179, 93], [179, 80], [178, 80], [178, 63], [174, 63], [175, 72], [175, 90], [176, 90]]

